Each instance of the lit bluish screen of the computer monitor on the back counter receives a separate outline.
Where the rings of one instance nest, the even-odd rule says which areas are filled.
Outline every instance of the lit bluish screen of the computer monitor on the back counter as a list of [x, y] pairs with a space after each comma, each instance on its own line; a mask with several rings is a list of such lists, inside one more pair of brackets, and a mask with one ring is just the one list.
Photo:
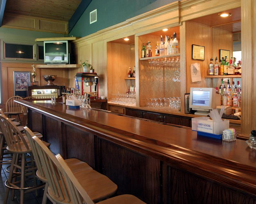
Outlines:
[[210, 103], [210, 91], [193, 91], [192, 105], [208, 107]]

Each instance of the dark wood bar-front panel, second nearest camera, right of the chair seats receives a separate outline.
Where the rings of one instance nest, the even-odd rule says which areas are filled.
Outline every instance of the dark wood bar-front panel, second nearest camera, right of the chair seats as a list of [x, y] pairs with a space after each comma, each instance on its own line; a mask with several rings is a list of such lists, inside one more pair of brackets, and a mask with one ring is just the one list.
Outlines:
[[148, 204], [160, 201], [160, 161], [99, 139], [100, 172], [118, 186], [117, 194], [132, 194]]

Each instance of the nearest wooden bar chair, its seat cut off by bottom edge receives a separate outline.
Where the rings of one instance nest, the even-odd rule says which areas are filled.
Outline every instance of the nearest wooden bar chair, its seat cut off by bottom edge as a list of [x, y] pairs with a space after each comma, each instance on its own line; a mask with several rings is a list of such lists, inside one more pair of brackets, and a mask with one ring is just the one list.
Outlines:
[[[65, 180], [65, 184], [68, 188], [70, 200], [74, 204], [94, 204], [90, 196], [87, 194], [84, 186], [77, 180], [72, 171], [68, 168], [68, 165], [63, 160], [60, 154], [56, 155], [58, 163], [55, 163], [58, 170], [61, 172], [61, 176]], [[53, 161], [55, 162], [55, 160]], [[107, 200], [98, 202], [97, 204], [145, 204], [143, 201], [133, 195], [119, 195]]]

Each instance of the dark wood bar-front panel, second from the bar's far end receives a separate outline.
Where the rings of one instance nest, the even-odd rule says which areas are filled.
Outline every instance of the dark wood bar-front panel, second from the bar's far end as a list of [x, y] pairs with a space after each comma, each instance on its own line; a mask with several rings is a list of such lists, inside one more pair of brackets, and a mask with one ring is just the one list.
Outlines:
[[65, 155], [61, 148], [61, 123], [59, 121], [50, 117], [44, 118], [44, 138], [51, 144], [49, 148], [53, 154], [56, 155], [60, 153], [61, 155]]

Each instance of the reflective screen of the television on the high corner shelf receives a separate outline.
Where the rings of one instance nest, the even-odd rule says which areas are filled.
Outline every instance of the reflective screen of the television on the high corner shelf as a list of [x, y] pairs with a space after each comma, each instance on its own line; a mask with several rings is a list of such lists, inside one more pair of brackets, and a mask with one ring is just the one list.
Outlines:
[[44, 61], [66, 61], [67, 60], [67, 43], [52, 42], [45, 43], [45, 58]]

